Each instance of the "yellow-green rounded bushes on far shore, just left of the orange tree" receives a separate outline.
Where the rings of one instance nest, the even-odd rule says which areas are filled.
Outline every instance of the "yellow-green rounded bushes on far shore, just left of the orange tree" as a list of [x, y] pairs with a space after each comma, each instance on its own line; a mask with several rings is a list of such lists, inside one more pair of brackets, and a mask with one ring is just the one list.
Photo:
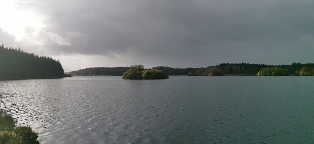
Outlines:
[[280, 67], [262, 68], [257, 73], [257, 76], [284, 76], [284, 75], [290, 75], [290, 73], [288, 69], [283, 69]]

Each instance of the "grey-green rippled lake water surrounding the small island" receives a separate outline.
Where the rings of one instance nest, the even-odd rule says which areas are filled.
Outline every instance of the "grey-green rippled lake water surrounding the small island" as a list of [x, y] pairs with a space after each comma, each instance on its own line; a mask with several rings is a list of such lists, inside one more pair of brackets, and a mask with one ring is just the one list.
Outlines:
[[0, 93], [45, 144], [314, 142], [314, 77], [77, 76], [0, 81]]

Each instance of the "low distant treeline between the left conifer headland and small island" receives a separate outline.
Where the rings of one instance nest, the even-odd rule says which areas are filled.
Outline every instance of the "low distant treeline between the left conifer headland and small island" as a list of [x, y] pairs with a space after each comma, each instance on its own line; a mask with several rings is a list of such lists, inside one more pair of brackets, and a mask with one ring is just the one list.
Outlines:
[[71, 75], [123, 75], [130, 67], [97, 67], [71, 71]]

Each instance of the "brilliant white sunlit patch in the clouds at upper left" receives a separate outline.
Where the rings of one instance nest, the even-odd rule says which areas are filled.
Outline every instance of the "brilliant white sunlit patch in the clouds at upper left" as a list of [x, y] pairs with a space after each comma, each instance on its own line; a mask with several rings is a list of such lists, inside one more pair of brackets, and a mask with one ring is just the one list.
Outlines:
[[32, 41], [41, 44], [39, 33], [46, 25], [42, 23], [45, 17], [27, 5], [31, 1], [0, 0], [0, 28], [15, 37], [15, 41]]

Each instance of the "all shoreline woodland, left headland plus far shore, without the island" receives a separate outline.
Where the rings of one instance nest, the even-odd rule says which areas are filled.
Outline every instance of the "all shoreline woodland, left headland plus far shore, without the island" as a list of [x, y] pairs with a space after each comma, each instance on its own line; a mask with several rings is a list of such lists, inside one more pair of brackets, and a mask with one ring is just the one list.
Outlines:
[[[79, 69], [65, 74], [59, 60], [24, 52], [22, 49], [0, 45], [0, 80], [47, 79], [71, 77], [71, 75], [117, 75], [122, 76], [131, 67], [94, 67]], [[158, 66], [152, 69], [166, 75], [314, 75], [314, 63], [291, 65], [266, 65], [249, 63], [221, 63], [201, 68], [171, 68]], [[212, 72], [211, 72], [212, 71]], [[213, 73], [214, 72], [214, 73]]]

